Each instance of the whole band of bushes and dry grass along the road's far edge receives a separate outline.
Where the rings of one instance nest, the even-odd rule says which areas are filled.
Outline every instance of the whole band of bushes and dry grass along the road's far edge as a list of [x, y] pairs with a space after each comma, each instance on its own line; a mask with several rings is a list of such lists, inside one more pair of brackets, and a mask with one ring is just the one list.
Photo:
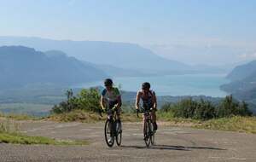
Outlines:
[[[99, 90], [81, 90], [77, 94], [74, 96], [73, 90], [67, 90], [67, 100], [52, 107], [50, 115], [43, 119], [84, 123], [105, 121], [106, 114], [102, 113], [100, 109]], [[131, 105], [124, 103], [122, 112], [122, 121], [124, 122], [142, 121], [141, 118], [137, 119], [135, 108]], [[192, 98], [166, 103], [157, 111], [157, 117], [159, 122], [165, 122], [172, 126], [256, 133], [256, 117], [249, 111], [246, 102], [236, 101], [232, 95], [226, 96], [218, 103], [203, 99], [193, 100]], [[15, 115], [9, 115], [9, 118], [32, 119]]]

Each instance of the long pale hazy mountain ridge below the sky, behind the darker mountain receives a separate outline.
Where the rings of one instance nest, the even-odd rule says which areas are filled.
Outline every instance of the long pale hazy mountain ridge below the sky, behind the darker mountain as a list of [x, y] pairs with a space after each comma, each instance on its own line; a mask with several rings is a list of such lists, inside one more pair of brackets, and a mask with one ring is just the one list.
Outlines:
[[0, 37], [0, 45], [24, 45], [42, 51], [56, 49], [67, 53], [67, 55], [75, 56], [79, 60], [149, 74], [195, 73], [204, 70], [178, 61], [164, 59], [155, 55], [151, 50], [133, 43]]

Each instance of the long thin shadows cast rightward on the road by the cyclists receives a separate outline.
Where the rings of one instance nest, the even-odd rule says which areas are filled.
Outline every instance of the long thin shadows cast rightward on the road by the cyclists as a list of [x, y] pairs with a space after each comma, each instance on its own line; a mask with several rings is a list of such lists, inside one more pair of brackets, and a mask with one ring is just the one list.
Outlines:
[[[138, 148], [144, 149], [147, 147], [142, 146], [121, 146], [121, 148]], [[191, 149], [212, 149], [212, 150], [226, 150], [224, 148], [212, 148], [212, 147], [184, 147], [184, 146], [172, 146], [172, 145], [154, 145], [147, 149], [163, 149], [163, 150], [179, 150], [179, 151], [190, 151]]]

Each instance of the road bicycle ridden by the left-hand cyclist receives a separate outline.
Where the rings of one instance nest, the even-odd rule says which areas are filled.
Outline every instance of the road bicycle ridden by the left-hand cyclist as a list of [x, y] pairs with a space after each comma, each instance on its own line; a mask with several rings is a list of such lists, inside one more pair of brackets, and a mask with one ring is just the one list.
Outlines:
[[108, 109], [107, 114], [108, 118], [105, 122], [104, 129], [105, 141], [109, 148], [113, 147], [114, 139], [116, 140], [116, 144], [120, 146], [122, 142], [121, 121], [117, 121], [116, 119], [116, 110]]

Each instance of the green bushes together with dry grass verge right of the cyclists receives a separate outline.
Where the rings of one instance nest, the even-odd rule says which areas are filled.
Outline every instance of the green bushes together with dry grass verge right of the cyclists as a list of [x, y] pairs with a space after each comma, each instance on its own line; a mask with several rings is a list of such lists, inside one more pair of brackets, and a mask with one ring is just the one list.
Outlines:
[[160, 120], [194, 128], [230, 130], [256, 133], [256, 117], [249, 111], [247, 103], [226, 96], [217, 105], [211, 101], [193, 101], [191, 98], [167, 103], [161, 109]]

